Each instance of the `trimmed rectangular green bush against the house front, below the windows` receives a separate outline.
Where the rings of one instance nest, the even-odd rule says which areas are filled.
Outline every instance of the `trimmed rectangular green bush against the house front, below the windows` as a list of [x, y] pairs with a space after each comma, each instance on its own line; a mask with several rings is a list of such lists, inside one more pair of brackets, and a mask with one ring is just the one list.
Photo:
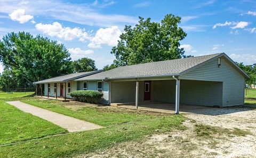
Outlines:
[[103, 94], [97, 90], [75, 90], [70, 92], [70, 96], [78, 102], [100, 104]]

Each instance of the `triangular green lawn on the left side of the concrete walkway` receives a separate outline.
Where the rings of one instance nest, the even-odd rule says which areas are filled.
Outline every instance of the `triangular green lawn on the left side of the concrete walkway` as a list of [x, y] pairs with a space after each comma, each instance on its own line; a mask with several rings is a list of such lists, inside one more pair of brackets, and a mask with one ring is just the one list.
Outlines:
[[0, 145], [67, 132], [0, 99]]

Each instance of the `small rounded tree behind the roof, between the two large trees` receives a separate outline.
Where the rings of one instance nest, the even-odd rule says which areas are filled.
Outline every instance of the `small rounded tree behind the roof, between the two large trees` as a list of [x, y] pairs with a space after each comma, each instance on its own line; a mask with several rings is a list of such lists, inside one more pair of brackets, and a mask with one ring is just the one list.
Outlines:
[[86, 72], [86, 71], [98, 70], [95, 66], [95, 61], [87, 57], [83, 57], [81, 59], [73, 61], [72, 67], [74, 72]]

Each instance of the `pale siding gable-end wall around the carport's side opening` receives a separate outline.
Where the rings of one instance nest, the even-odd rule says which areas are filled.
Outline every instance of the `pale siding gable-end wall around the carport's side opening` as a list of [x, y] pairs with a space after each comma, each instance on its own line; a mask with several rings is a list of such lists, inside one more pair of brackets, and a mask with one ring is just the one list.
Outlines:
[[245, 78], [224, 57], [221, 57], [220, 68], [218, 68], [218, 59], [216, 59], [183, 74], [180, 79], [223, 82], [222, 106], [244, 104]]

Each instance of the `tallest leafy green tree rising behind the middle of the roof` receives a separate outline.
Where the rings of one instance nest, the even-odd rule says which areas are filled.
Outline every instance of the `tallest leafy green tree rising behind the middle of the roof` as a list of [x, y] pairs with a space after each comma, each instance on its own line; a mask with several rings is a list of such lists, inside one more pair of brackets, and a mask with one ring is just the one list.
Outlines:
[[117, 46], [111, 49], [116, 66], [179, 59], [183, 56], [183, 48], [179, 48], [180, 40], [187, 34], [178, 27], [181, 18], [172, 14], [165, 15], [158, 22], [151, 22], [139, 17], [134, 28], [125, 26]]

